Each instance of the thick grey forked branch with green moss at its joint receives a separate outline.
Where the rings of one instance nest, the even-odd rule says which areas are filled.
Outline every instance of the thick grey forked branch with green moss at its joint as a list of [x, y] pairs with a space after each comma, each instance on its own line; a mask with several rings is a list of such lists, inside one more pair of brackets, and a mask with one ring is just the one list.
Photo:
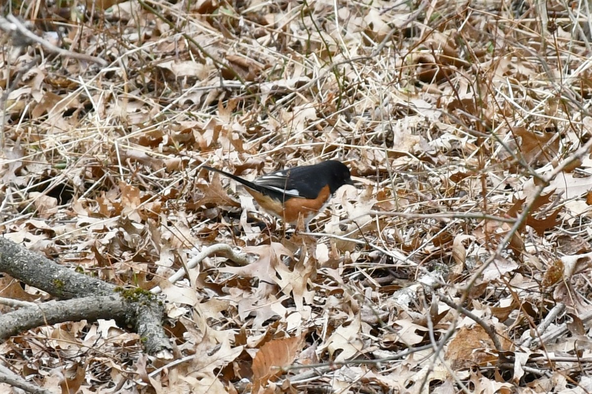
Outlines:
[[172, 357], [172, 347], [161, 323], [163, 306], [154, 295], [126, 291], [75, 272], [1, 237], [0, 271], [56, 298], [69, 300], [48, 302], [2, 315], [0, 338], [41, 324], [114, 318], [121, 327], [131, 325], [134, 328], [143, 338], [148, 354], [164, 359]]

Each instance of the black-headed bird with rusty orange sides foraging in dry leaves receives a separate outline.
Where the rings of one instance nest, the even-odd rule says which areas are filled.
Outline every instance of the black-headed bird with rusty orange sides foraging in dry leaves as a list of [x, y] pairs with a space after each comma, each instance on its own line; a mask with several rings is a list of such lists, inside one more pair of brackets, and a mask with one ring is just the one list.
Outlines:
[[201, 168], [242, 184], [263, 210], [285, 223], [297, 224], [302, 216], [307, 232], [308, 223], [324, 209], [337, 189], [353, 185], [349, 168], [336, 160], [270, 172], [253, 181], [208, 165]]

